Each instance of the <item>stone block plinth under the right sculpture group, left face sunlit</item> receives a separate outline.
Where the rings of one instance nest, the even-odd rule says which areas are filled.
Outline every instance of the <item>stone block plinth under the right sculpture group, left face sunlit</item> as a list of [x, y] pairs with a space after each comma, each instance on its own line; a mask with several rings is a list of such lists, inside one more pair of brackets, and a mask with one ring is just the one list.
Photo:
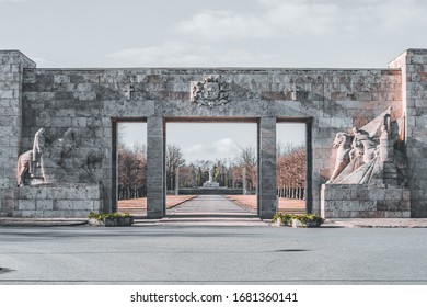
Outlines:
[[323, 218], [411, 217], [411, 191], [405, 187], [376, 187], [363, 184], [323, 184]]

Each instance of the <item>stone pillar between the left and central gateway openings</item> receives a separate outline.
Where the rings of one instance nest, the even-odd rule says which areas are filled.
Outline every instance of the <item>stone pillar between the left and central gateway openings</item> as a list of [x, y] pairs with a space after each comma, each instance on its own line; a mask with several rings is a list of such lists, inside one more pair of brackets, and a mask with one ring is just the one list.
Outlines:
[[147, 217], [165, 215], [164, 121], [147, 118]]

